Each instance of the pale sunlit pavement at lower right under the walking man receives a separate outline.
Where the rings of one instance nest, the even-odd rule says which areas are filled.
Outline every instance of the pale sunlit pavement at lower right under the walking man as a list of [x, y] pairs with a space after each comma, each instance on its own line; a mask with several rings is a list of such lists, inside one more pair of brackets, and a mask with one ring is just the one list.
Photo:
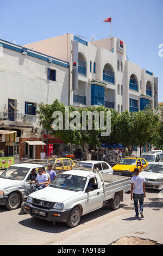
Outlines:
[[[134, 203], [130, 200], [130, 194], [124, 194], [122, 214], [108, 220], [97, 221], [96, 225], [79, 233], [71, 235], [53, 245], [109, 245], [122, 236], [138, 236], [143, 239], [151, 239], [163, 244], [163, 199], [158, 192], [151, 197], [150, 192], [145, 198], [143, 219], [134, 217]], [[123, 202], [123, 203], [124, 203]], [[116, 211], [114, 211], [116, 212]]]

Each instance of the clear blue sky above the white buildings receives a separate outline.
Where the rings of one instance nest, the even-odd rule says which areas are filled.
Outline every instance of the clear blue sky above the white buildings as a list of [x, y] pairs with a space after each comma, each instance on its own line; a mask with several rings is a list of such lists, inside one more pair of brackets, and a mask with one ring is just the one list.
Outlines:
[[131, 62], [159, 77], [163, 101], [162, 0], [8, 0], [0, 11], [0, 38], [21, 45], [64, 33], [107, 38], [110, 23], [102, 21], [112, 17], [112, 35], [126, 42]]

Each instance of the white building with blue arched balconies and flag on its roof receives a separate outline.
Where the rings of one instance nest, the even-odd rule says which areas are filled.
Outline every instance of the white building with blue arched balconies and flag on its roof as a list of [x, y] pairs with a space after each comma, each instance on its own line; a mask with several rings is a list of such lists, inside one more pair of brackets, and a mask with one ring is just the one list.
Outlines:
[[[73, 90], [73, 41], [78, 41], [78, 88]], [[115, 37], [86, 42], [73, 34], [56, 36], [24, 47], [70, 63], [70, 105], [105, 105], [122, 112], [158, 105], [158, 78], [127, 57], [126, 44]]]

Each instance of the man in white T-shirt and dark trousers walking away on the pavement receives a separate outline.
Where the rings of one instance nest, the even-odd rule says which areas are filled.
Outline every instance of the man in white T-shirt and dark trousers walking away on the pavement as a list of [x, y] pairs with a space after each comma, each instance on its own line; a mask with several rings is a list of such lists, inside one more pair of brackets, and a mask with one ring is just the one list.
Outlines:
[[143, 218], [143, 201], [146, 197], [145, 178], [139, 175], [139, 168], [134, 169], [134, 176], [131, 178], [131, 200], [134, 199], [135, 217], [139, 217], [138, 200], [140, 204], [140, 216]]

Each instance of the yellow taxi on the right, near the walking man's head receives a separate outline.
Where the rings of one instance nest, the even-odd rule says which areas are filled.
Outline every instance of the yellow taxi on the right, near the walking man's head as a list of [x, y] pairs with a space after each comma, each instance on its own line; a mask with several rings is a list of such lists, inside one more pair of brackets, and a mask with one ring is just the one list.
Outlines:
[[141, 169], [144, 169], [146, 166], [148, 166], [148, 162], [143, 158], [124, 157], [123, 159], [121, 159], [120, 162], [115, 164], [115, 166], [113, 166], [112, 169], [114, 174], [123, 176], [133, 176], [134, 169], [136, 167], [139, 168], [139, 172], [141, 172]]

